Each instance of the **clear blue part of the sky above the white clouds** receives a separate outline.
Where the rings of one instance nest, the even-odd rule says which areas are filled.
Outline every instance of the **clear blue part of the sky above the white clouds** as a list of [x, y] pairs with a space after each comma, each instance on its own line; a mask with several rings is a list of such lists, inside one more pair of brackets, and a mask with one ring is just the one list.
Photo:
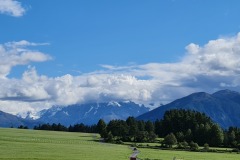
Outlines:
[[[175, 62], [190, 43], [203, 45], [240, 29], [239, 1], [19, 1], [15, 18], [0, 15], [0, 43], [49, 43], [53, 57], [37, 66], [49, 76], [90, 72], [100, 64]], [[13, 68], [20, 76], [26, 68]]]

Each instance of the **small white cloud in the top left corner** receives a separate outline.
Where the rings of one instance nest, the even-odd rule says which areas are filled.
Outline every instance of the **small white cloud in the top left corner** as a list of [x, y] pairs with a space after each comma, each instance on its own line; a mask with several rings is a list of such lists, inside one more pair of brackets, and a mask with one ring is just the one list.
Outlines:
[[26, 10], [21, 3], [15, 0], [0, 0], [0, 13], [8, 14], [14, 17], [23, 16]]

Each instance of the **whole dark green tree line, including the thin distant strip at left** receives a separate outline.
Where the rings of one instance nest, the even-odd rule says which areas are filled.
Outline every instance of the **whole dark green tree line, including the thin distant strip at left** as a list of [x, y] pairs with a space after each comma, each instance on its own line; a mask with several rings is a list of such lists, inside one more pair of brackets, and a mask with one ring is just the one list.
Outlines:
[[126, 120], [100, 119], [96, 125], [75, 124], [65, 127], [59, 124], [41, 124], [37, 130], [99, 133], [106, 142], [154, 142], [164, 137], [163, 146], [178, 144], [179, 148], [192, 146], [225, 146], [240, 149], [240, 129], [223, 130], [204, 113], [192, 110], [173, 109], [166, 111], [161, 120], [142, 121], [134, 117]]

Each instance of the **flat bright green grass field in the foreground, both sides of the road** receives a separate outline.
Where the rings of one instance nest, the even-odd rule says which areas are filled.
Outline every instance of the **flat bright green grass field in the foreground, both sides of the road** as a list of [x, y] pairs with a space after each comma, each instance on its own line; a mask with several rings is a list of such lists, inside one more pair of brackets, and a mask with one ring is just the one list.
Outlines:
[[[126, 145], [99, 142], [96, 134], [0, 128], [0, 159], [128, 160]], [[172, 160], [237, 160], [236, 153], [202, 153], [140, 148], [139, 158]]]

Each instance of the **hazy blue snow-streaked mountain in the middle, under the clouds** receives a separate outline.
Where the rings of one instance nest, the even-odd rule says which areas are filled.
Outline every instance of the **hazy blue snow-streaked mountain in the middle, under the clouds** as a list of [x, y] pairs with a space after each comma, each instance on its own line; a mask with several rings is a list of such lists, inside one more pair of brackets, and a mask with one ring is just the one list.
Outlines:
[[125, 120], [129, 116], [138, 116], [149, 111], [143, 105], [134, 102], [109, 102], [52, 107], [39, 113], [38, 121], [44, 123], [61, 123], [65, 126], [76, 123], [96, 124], [99, 119], [109, 122], [112, 119]]

